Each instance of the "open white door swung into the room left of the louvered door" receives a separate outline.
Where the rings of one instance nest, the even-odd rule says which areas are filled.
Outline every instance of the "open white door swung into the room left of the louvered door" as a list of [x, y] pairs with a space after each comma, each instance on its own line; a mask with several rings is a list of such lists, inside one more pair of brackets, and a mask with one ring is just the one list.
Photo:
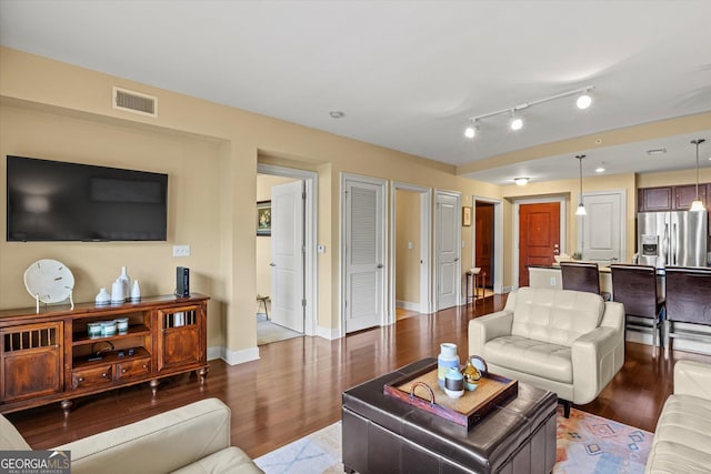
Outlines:
[[271, 320], [303, 332], [303, 182], [271, 189]]

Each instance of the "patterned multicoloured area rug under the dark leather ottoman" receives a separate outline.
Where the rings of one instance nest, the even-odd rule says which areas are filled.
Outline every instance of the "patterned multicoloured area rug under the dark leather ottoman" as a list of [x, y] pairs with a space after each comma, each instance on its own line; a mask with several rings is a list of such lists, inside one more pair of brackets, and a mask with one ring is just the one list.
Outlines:
[[[643, 473], [652, 433], [572, 409], [558, 413], [555, 474]], [[267, 474], [342, 473], [341, 423], [254, 460]]]

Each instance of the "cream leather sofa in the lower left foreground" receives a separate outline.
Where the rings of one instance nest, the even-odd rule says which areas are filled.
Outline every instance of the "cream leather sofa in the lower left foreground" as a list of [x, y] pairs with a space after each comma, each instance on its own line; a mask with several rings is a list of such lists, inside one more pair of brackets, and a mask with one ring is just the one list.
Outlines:
[[[230, 417], [224, 403], [206, 399], [52, 450], [71, 452], [72, 474], [261, 473], [230, 445]], [[1, 450], [31, 450], [2, 415]]]

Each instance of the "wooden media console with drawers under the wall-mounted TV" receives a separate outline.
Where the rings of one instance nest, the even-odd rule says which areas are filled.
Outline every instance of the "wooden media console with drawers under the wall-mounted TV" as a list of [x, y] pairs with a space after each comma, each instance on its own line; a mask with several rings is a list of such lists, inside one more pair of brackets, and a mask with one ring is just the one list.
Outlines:
[[[208, 296], [156, 296], [138, 303], [0, 311], [0, 413], [61, 402], [164, 376], [208, 374]], [[90, 337], [90, 323], [128, 329]]]

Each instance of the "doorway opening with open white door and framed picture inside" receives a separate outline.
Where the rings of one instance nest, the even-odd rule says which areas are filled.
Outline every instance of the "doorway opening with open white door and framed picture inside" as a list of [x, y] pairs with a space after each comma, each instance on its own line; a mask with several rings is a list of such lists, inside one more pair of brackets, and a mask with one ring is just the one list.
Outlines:
[[316, 173], [258, 164], [257, 345], [316, 332]]

